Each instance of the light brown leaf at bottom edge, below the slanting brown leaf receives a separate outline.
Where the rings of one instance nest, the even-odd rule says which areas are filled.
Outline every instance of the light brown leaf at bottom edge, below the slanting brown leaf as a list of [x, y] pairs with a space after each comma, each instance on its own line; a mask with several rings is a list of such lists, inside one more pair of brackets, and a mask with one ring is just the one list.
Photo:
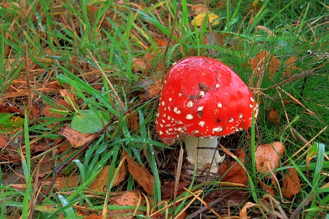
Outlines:
[[[109, 198], [110, 205], [117, 205], [117, 206], [136, 206], [138, 201], [138, 196], [136, 192], [133, 191], [126, 191], [121, 195], [116, 197]], [[110, 217], [115, 217], [116, 219], [132, 219], [134, 218], [133, 215], [122, 215], [118, 216], [118, 214], [133, 214], [134, 209], [121, 209], [121, 210], [112, 210], [107, 211], [107, 215]]]

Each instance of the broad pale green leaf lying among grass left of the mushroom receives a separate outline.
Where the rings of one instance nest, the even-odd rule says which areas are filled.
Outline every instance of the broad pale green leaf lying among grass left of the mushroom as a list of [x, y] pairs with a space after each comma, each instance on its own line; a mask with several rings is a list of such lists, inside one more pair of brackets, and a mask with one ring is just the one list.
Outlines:
[[[101, 115], [100, 111], [98, 113]], [[102, 120], [94, 110], [79, 110], [72, 118], [71, 127], [82, 134], [95, 133], [99, 132], [108, 123], [104, 118]]]

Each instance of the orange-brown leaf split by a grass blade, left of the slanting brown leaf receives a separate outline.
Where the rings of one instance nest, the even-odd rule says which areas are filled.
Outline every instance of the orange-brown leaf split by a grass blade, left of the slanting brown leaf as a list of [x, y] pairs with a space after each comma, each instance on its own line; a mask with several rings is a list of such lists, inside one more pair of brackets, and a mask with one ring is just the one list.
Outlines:
[[[123, 162], [124, 162], [124, 159], [125, 158], [122, 159]], [[90, 190], [92, 190], [94, 192], [104, 192], [105, 191], [110, 167], [111, 166], [103, 167], [103, 169], [96, 176], [93, 183], [90, 184], [90, 186], [88, 187]], [[113, 169], [112, 178], [113, 178], [115, 171], [116, 171], [116, 168]], [[120, 166], [118, 175], [115, 178], [113, 186], [117, 186], [119, 183], [121, 183], [124, 180], [125, 175], [126, 175], [126, 169], [125, 169], [124, 163], [122, 163], [122, 165]]]

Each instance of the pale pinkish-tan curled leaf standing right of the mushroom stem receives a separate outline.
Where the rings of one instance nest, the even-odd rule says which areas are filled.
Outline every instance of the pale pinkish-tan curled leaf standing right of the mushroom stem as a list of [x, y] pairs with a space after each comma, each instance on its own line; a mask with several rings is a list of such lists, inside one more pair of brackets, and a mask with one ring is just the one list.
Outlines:
[[255, 157], [258, 172], [266, 174], [276, 169], [283, 153], [284, 145], [281, 142], [257, 146]]

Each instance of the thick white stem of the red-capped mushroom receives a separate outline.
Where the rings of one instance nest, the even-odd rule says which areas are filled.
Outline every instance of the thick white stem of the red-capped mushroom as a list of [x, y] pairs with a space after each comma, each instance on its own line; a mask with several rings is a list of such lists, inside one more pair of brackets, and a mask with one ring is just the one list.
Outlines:
[[212, 157], [215, 153], [214, 162], [211, 164], [210, 172], [218, 172], [216, 163], [222, 163], [225, 155], [221, 156], [218, 150], [199, 149], [197, 147], [212, 147], [216, 148], [218, 144], [218, 137], [212, 138], [197, 138], [192, 136], [182, 136], [181, 139], [185, 143], [187, 160], [194, 165], [198, 161], [198, 169], [205, 169], [210, 167]]

